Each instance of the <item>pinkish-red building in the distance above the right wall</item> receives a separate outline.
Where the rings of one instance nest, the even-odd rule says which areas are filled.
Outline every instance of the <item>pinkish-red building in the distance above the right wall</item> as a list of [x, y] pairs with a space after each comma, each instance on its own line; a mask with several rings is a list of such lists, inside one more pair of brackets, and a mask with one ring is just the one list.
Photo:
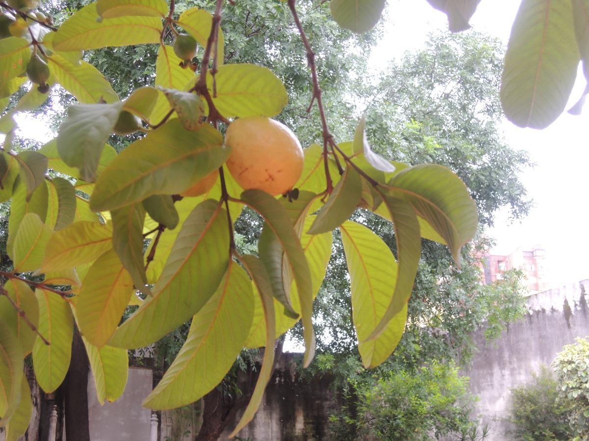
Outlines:
[[546, 250], [542, 246], [520, 246], [509, 255], [486, 254], [482, 258], [484, 283], [501, 280], [503, 273], [518, 268], [524, 272], [528, 282], [528, 292], [544, 291], [548, 286], [545, 270]]

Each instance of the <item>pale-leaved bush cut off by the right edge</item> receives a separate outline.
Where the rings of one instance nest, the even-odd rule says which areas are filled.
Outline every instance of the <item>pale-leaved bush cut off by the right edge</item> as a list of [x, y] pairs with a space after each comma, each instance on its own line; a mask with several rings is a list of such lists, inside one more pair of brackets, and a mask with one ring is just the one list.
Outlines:
[[552, 367], [558, 380], [562, 403], [570, 405], [568, 422], [579, 439], [589, 439], [589, 341], [575, 339], [574, 345], [562, 347]]

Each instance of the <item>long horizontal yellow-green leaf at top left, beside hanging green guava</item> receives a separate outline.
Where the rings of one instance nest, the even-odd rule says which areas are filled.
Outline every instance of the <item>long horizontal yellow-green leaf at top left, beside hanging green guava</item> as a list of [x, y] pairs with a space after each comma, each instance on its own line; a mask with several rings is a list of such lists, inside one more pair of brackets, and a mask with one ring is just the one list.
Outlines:
[[80, 9], [59, 28], [53, 40], [56, 51], [99, 49], [106, 46], [128, 46], [158, 43], [163, 29], [161, 19], [127, 16], [98, 22], [97, 4]]

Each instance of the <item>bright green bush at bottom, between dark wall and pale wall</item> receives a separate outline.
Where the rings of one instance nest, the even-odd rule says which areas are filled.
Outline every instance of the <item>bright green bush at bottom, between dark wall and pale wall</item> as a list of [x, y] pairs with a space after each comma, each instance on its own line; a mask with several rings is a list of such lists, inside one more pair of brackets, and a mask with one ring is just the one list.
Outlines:
[[333, 439], [421, 441], [451, 434], [469, 439], [474, 399], [468, 377], [459, 376], [454, 365], [433, 362], [415, 372], [391, 372], [354, 386], [355, 405], [330, 418]]

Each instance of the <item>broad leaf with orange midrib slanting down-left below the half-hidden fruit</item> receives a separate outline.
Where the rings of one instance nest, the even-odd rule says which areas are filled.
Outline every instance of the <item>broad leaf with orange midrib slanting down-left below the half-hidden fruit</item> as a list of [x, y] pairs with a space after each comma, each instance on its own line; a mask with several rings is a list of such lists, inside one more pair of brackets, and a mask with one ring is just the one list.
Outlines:
[[219, 202], [205, 201], [184, 222], [153, 296], [117, 329], [108, 344], [141, 348], [177, 328], [211, 298], [227, 265], [227, 213]]

